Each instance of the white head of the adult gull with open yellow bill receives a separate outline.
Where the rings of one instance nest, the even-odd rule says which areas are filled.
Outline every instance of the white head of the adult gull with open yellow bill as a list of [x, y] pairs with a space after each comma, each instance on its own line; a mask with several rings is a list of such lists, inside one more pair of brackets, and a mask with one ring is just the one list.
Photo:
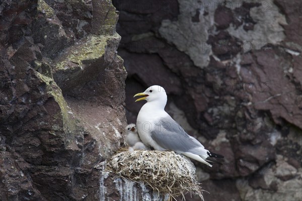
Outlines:
[[135, 102], [139, 100], [146, 100], [147, 102], [157, 102], [157, 104], [163, 106], [163, 108], [166, 106], [167, 94], [165, 89], [159, 85], [150, 86], [144, 92], [136, 93], [133, 97], [139, 95], [143, 95], [143, 97], [136, 99]]

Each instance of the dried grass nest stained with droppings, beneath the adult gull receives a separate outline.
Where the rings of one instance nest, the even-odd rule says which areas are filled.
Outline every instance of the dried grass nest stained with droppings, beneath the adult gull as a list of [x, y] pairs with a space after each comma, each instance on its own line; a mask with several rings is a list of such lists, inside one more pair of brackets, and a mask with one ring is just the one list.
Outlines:
[[143, 181], [159, 193], [175, 196], [186, 193], [202, 196], [195, 166], [173, 151], [121, 151], [107, 162], [107, 170], [133, 181]]

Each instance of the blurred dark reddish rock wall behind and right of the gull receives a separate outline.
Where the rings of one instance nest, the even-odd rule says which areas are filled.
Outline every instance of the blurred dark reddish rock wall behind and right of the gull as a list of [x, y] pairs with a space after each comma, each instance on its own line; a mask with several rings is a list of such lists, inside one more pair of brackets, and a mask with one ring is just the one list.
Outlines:
[[205, 200], [300, 200], [301, 2], [113, 5], [120, 12], [118, 54], [128, 72], [128, 123], [143, 104], [133, 94], [162, 85], [168, 113], [225, 156], [222, 166], [195, 163], [210, 192]]

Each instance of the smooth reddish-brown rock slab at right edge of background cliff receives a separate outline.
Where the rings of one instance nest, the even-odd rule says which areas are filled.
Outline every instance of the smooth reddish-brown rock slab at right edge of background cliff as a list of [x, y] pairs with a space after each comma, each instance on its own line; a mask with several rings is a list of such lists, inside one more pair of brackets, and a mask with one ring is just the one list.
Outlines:
[[255, 109], [269, 110], [276, 124], [282, 124], [280, 118], [283, 118], [302, 128], [299, 121], [302, 114], [295, 101], [298, 99], [295, 85], [283, 75], [285, 57], [277, 50], [257, 52], [254, 56], [253, 63], [242, 68], [241, 76], [245, 82], [254, 85], [250, 92]]

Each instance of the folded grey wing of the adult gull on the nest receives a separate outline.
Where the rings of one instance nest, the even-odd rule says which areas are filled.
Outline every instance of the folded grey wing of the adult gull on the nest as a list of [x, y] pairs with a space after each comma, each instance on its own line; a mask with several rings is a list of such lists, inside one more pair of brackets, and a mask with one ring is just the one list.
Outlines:
[[151, 132], [151, 137], [156, 143], [167, 150], [191, 152], [201, 154], [204, 147], [198, 140], [189, 136], [184, 129], [170, 116], [162, 118], [155, 129]]

